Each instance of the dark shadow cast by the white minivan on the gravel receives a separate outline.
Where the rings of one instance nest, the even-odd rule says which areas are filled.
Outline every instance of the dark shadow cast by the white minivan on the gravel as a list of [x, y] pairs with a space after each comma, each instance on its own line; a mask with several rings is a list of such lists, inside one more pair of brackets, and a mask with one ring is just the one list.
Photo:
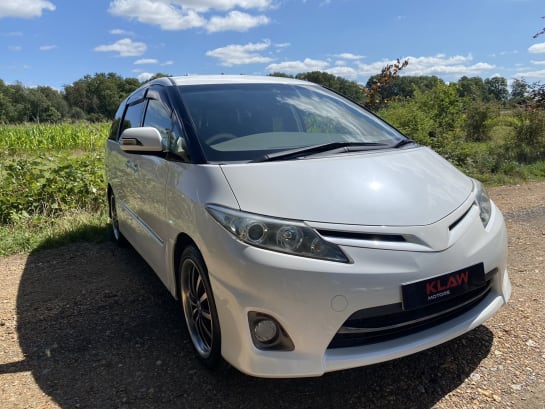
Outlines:
[[30, 370], [63, 408], [425, 408], [456, 389], [490, 352], [484, 326], [384, 364], [321, 378], [267, 380], [203, 369], [178, 304], [145, 262], [113, 243], [31, 254], [17, 299]]

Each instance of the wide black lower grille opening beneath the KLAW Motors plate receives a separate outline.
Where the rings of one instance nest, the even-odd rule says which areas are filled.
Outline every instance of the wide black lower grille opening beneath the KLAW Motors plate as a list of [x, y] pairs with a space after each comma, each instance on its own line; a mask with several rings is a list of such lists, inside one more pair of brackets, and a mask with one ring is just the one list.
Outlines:
[[[492, 272], [493, 273], [493, 272]], [[403, 337], [439, 325], [476, 306], [490, 292], [492, 273], [478, 288], [450, 300], [404, 311], [401, 303], [368, 308], [352, 314], [328, 348], [370, 345]]]

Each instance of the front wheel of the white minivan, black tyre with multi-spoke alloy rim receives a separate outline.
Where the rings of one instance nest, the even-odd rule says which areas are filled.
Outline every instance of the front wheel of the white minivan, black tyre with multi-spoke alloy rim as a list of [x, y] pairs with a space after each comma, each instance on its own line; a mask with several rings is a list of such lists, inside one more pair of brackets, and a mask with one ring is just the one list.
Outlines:
[[180, 259], [180, 299], [197, 357], [207, 368], [221, 361], [221, 333], [216, 303], [201, 253], [187, 247]]

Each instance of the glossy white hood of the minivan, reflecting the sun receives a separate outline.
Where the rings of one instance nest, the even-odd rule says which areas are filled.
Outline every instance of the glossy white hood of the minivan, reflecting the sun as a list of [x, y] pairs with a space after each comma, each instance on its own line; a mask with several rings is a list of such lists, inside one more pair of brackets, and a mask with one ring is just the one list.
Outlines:
[[322, 223], [434, 223], [469, 196], [470, 178], [424, 147], [222, 165], [240, 209]]

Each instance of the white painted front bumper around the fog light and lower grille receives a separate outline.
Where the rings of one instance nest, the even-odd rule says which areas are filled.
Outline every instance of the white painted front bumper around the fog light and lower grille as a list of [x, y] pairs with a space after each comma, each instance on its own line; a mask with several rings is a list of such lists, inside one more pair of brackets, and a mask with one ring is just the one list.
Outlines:
[[[203, 256], [222, 334], [222, 355], [244, 373], [261, 377], [320, 376], [383, 362], [433, 347], [481, 325], [511, 294], [507, 235], [494, 207], [486, 229], [470, 209], [456, 240], [443, 251], [409, 251], [341, 245], [350, 264], [320, 261], [249, 247], [211, 218]], [[354, 312], [401, 302], [401, 284], [483, 263], [497, 269], [488, 294], [473, 308], [425, 330], [370, 345], [329, 349]], [[248, 313], [274, 317], [293, 351], [256, 348]]]

